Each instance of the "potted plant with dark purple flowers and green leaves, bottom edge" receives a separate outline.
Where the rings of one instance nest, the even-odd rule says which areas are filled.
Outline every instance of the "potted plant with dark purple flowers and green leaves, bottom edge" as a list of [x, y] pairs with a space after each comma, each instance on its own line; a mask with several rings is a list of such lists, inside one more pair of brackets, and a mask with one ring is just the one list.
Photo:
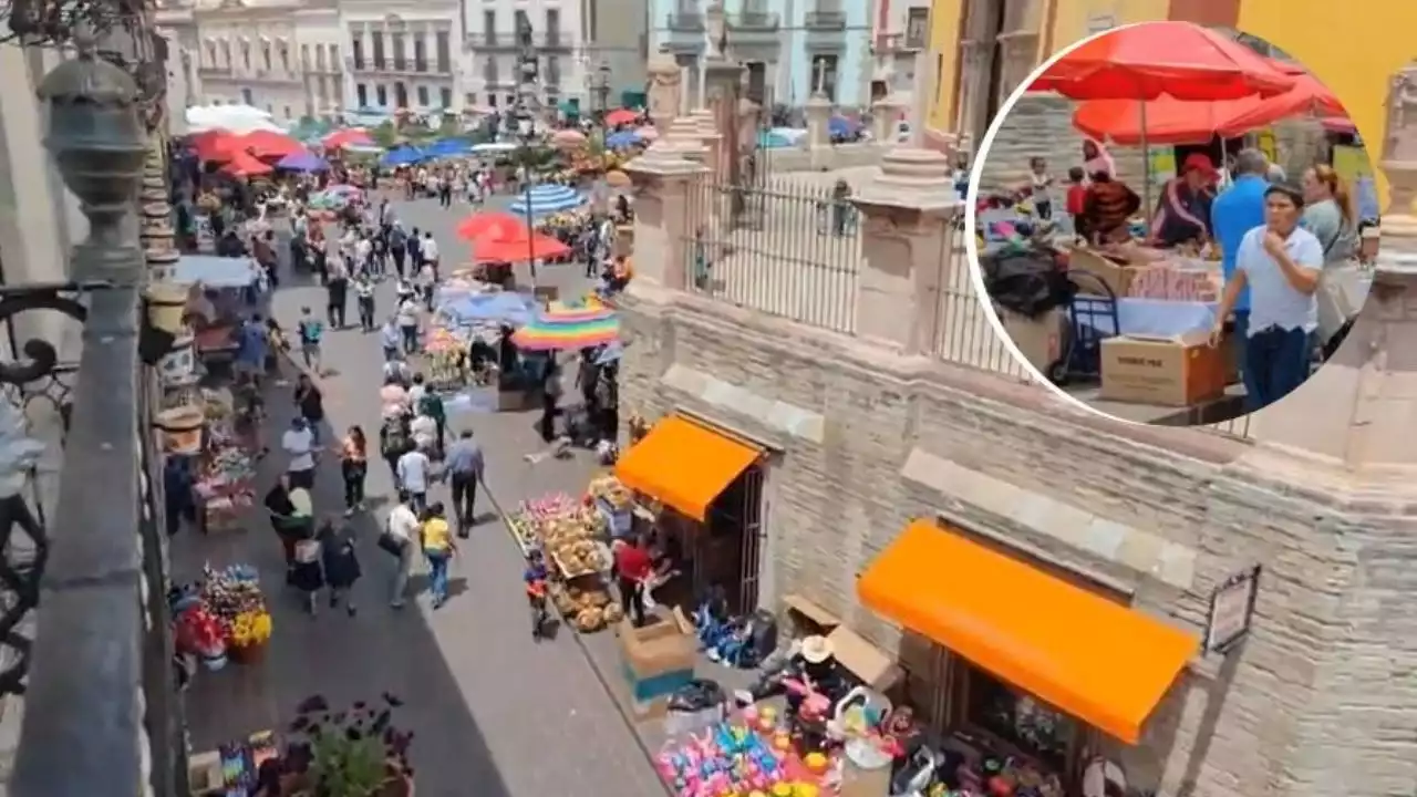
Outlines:
[[401, 705], [388, 692], [346, 710], [320, 695], [306, 698], [286, 746], [286, 769], [299, 776], [295, 797], [414, 797], [414, 735], [394, 725]]

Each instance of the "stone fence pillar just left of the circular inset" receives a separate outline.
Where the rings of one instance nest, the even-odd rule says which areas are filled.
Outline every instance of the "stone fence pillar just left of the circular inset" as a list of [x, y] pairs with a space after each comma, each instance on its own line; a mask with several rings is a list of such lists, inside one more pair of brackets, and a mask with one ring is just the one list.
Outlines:
[[876, 180], [852, 201], [864, 217], [857, 335], [907, 355], [925, 353], [935, 342], [942, 288], [968, 279], [951, 272], [968, 269], [968, 262], [952, 257], [949, 218], [959, 201], [949, 159], [927, 149], [893, 149]]

